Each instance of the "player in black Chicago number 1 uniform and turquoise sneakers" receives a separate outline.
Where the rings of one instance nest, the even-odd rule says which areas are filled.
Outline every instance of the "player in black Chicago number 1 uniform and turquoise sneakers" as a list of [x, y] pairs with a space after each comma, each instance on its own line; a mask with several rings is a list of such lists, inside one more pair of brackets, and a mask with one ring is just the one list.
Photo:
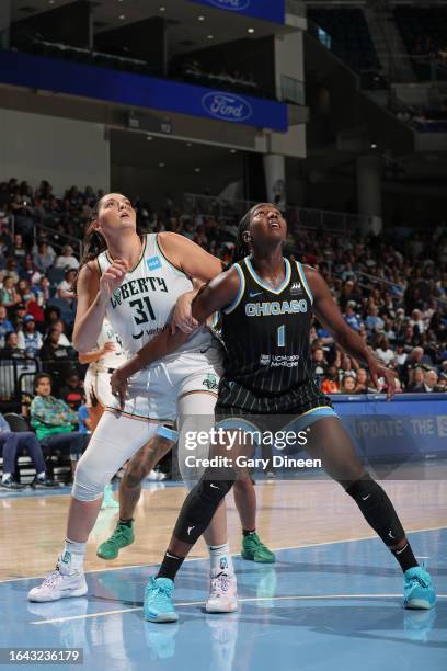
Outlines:
[[[247, 423], [263, 431], [272, 424], [279, 428], [278, 416], [283, 416], [283, 428], [307, 428], [306, 450], [321, 459], [325, 471], [355, 500], [396, 556], [404, 573], [404, 605], [429, 609], [435, 603], [431, 576], [417, 565], [391, 501], [365, 470], [330, 399], [313, 379], [309, 353], [312, 312], [339, 345], [369, 367], [376, 385], [380, 377], [386, 378], [388, 399], [394, 393], [394, 374], [346, 325], [323, 277], [283, 257], [286, 235], [286, 221], [274, 205], [255, 205], [239, 226], [238, 263], [203, 287], [193, 300], [192, 316], [199, 323], [215, 311], [222, 314], [227, 353], [215, 412], [218, 422], [225, 420], [224, 425], [233, 428], [233, 440], [239, 435], [239, 441], [233, 443], [227, 433], [227, 443], [211, 446], [210, 456], [221, 457], [219, 467], [208, 467], [185, 499], [158, 576], [146, 588], [144, 613], [148, 621], [177, 619], [167, 595], [171, 590], [165, 591], [164, 585], [169, 581], [172, 587], [185, 556], [234, 484], [239, 457], [250, 457], [253, 452], [251, 442], [241, 440], [236, 429]], [[184, 338], [180, 332], [163, 333], [148, 343], [115, 374], [115, 391], [123, 391], [121, 385], [129, 375], [174, 351]]]

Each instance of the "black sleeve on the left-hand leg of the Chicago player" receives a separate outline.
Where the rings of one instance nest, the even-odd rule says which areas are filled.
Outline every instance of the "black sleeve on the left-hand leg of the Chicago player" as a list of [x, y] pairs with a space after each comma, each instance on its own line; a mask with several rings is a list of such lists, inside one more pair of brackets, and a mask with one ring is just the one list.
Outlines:
[[219, 503], [236, 481], [232, 468], [207, 468], [182, 505], [174, 536], [192, 545], [209, 526]]

